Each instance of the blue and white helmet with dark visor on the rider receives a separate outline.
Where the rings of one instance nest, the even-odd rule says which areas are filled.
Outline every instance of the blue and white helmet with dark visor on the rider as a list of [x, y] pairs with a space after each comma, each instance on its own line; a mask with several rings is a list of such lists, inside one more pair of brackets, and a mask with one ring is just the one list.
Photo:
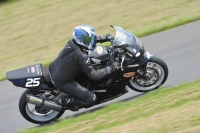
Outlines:
[[96, 32], [90, 25], [77, 26], [73, 31], [73, 39], [86, 49], [94, 49], [96, 47]]

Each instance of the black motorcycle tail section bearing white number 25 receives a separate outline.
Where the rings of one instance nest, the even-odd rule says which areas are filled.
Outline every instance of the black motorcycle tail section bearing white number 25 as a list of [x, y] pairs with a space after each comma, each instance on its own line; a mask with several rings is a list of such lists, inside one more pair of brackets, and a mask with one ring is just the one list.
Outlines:
[[50, 81], [45, 80], [44, 77], [48, 77], [48, 69], [43, 68], [42, 64], [19, 68], [7, 72], [6, 78], [18, 87], [41, 90], [54, 88]]

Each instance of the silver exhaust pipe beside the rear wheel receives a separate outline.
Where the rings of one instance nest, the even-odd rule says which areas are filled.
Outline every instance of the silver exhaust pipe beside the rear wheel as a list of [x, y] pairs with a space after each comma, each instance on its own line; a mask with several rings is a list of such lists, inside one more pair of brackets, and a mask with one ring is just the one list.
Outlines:
[[32, 95], [26, 95], [26, 101], [27, 103], [31, 103], [36, 106], [42, 106], [43, 108], [55, 110], [58, 112], [61, 111], [62, 109], [62, 105], [60, 105], [59, 103], [56, 103], [54, 101], [44, 100]]

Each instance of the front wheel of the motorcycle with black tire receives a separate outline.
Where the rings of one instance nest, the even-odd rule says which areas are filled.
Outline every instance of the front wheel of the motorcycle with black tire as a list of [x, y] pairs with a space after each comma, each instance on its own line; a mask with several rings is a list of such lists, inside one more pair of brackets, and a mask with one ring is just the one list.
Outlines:
[[137, 74], [132, 77], [127, 86], [138, 92], [148, 92], [162, 86], [168, 77], [168, 67], [166, 63], [153, 56], [146, 66], [146, 75], [148, 78], [143, 78]]

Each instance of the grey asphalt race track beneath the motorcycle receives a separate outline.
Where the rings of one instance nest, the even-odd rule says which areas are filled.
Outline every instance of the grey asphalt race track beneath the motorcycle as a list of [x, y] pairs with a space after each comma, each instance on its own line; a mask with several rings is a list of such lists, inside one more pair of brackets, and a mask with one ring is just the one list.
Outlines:
[[[162, 58], [169, 67], [169, 76], [163, 85], [164, 88], [200, 77], [200, 21], [140, 39], [146, 51]], [[19, 113], [18, 101], [25, 89], [15, 87], [8, 81], [0, 82], [0, 89], [0, 133], [15, 133], [20, 129], [38, 126], [26, 121]], [[81, 115], [112, 102], [133, 99], [139, 95], [141, 93], [130, 90], [120, 98], [88, 110], [82, 109], [76, 113], [66, 111], [62, 118]]]

